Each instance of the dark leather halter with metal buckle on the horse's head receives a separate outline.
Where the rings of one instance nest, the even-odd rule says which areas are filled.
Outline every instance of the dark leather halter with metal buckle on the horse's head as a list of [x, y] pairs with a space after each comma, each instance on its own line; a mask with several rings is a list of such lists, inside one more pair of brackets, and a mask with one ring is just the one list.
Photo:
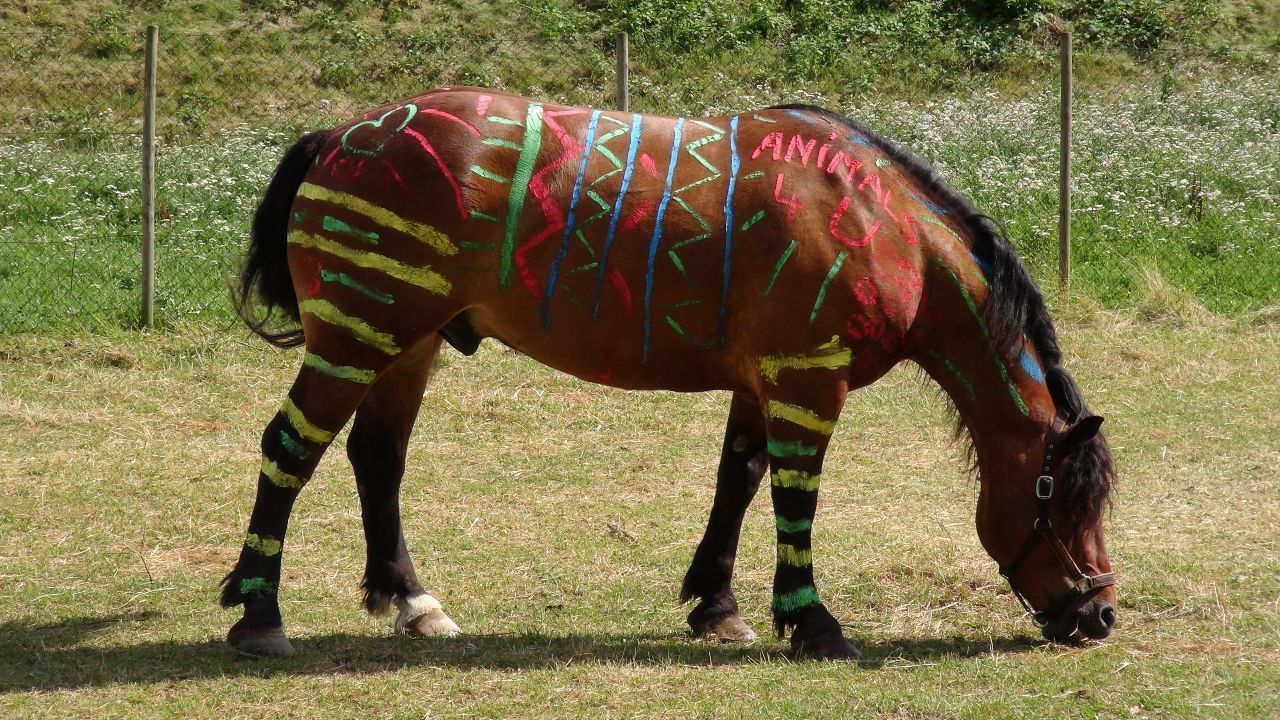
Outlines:
[[[1014, 561], [1000, 569], [1000, 577], [1009, 580], [1009, 587], [1014, 591], [1014, 597], [1018, 598], [1018, 602], [1023, 605], [1027, 612], [1030, 612], [1032, 620], [1039, 626], [1044, 626], [1050, 620], [1059, 618], [1068, 607], [1079, 602], [1082, 597], [1089, 597], [1107, 585], [1116, 584], [1114, 573], [1085, 575], [1080, 570], [1080, 566], [1075, 564], [1075, 560], [1071, 560], [1071, 553], [1066, 551], [1066, 546], [1062, 544], [1062, 539], [1057, 537], [1057, 530], [1053, 529], [1053, 524], [1048, 519], [1048, 505], [1050, 500], [1053, 498], [1055, 451], [1057, 450], [1059, 439], [1066, 429], [1069, 427], [1062, 421], [1062, 418], [1055, 416], [1048, 433], [1044, 436], [1044, 464], [1041, 468], [1039, 477], [1036, 478], [1038, 511], [1036, 523], [1032, 525], [1032, 534], [1023, 543], [1023, 548], [1018, 551]], [[1032, 550], [1036, 548], [1039, 539], [1043, 539], [1048, 544], [1048, 548], [1053, 551], [1059, 565], [1071, 578], [1071, 587], [1065, 594], [1052, 601], [1048, 607], [1037, 611], [1018, 589], [1018, 585], [1014, 584], [1014, 573], [1023, 566], [1023, 562], [1030, 556]]]

